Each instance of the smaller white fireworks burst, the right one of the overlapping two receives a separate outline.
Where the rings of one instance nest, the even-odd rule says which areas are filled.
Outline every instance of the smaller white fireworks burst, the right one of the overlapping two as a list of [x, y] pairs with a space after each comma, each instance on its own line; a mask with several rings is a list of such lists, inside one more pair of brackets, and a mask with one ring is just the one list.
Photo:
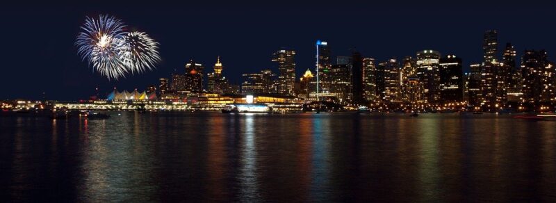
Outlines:
[[145, 70], [152, 70], [154, 65], [161, 61], [158, 56], [158, 42], [143, 32], [127, 33], [124, 37], [129, 51], [126, 52], [125, 58], [127, 59], [126, 65], [134, 72], [144, 72]]

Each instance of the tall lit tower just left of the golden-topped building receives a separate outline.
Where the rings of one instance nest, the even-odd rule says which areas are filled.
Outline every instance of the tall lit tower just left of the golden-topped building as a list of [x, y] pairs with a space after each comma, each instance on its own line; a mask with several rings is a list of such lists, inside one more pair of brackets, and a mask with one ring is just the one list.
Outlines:
[[278, 63], [278, 93], [294, 95], [295, 51], [278, 50], [272, 55], [272, 61]]

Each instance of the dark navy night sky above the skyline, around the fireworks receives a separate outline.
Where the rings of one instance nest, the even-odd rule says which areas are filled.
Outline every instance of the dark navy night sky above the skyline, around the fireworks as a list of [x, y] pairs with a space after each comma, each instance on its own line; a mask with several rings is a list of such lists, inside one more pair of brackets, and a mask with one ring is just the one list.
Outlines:
[[[468, 70], [470, 63], [482, 61], [483, 32], [496, 29], [500, 53], [512, 42], [518, 56], [524, 49], [546, 49], [550, 60], [556, 59], [554, 3], [160, 2], [3, 3], [0, 99], [40, 99], [42, 92], [47, 99], [87, 99], [97, 87], [101, 92], [113, 87], [145, 90], [174, 70], [183, 72], [190, 58], [212, 72], [217, 56], [224, 76], [240, 83], [243, 73], [277, 71], [270, 58], [281, 47], [297, 51], [298, 78], [308, 67], [314, 69], [317, 39], [329, 43], [333, 56], [356, 48], [379, 61], [434, 49], [463, 58]], [[93, 72], [76, 54], [74, 40], [85, 16], [99, 14], [114, 15], [132, 30], [149, 33], [161, 43], [163, 62], [154, 71], [118, 81]]]

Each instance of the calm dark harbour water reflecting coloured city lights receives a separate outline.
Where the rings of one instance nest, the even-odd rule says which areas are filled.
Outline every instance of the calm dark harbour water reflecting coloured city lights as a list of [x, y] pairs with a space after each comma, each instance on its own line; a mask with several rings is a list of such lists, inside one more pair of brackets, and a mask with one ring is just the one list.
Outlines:
[[0, 202], [556, 202], [556, 122], [509, 115], [0, 117]]

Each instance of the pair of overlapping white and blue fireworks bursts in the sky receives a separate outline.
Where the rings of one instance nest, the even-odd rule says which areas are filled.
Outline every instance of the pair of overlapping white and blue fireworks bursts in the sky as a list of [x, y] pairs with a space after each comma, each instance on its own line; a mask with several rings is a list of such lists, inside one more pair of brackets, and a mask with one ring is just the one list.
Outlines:
[[128, 33], [125, 28], [124, 22], [115, 17], [87, 17], [75, 42], [77, 54], [108, 79], [152, 70], [161, 60], [158, 43], [146, 33]]

